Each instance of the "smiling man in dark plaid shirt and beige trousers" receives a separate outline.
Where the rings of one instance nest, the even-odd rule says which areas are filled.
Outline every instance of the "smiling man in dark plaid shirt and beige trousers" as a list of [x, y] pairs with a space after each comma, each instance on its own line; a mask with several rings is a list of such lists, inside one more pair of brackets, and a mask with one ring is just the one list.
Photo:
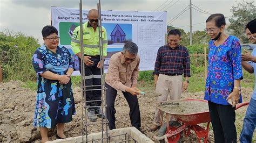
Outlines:
[[[156, 85], [156, 92], [160, 93], [161, 96], [157, 97], [157, 102], [166, 101], [168, 95], [170, 95], [171, 100], [180, 99], [181, 91], [188, 87], [190, 55], [186, 47], [179, 45], [180, 40], [180, 31], [173, 29], [168, 32], [169, 44], [158, 49], [154, 65], [154, 84]], [[171, 120], [175, 119], [172, 118]], [[154, 123], [150, 126], [150, 130], [156, 131], [160, 125], [160, 114], [159, 110], [156, 109]]]

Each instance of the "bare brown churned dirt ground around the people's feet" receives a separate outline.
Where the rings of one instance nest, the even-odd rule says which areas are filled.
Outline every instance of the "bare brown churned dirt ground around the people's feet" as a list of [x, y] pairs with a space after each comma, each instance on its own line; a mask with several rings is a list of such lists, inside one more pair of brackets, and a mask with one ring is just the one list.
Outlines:
[[[21, 81], [11, 81], [7, 83], [0, 83], [0, 142], [39, 142], [40, 134], [38, 128], [32, 126], [32, 121], [35, 111], [36, 91], [22, 88]], [[252, 89], [242, 88], [244, 101], [250, 99]], [[81, 135], [82, 130], [82, 95], [80, 88], [73, 88], [77, 115], [73, 116], [73, 120], [66, 124], [65, 135], [67, 137], [76, 137]], [[154, 119], [154, 102], [155, 99], [152, 95], [154, 92], [145, 91], [148, 96], [138, 96], [140, 116], [142, 119], [142, 130], [146, 133], [147, 137], [153, 140], [153, 135], [158, 135], [158, 130], [151, 132], [149, 130], [150, 125]], [[203, 99], [204, 92], [196, 92], [194, 94], [184, 92], [182, 98], [198, 98]], [[116, 98], [116, 127], [130, 127], [129, 118], [129, 105], [125, 101], [123, 94], [118, 93]], [[237, 113], [241, 114], [240, 118], [237, 118], [236, 123], [241, 128], [242, 119], [244, 118], [246, 108], [242, 108]], [[238, 127], [238, 128], [239, 128]], [[100, 126], [89, 126], [88, 132], [100, 130]], [[241, 129], [240, 129], [241, 130]], [[51, 140], [55, 140], [56, 129], [49, 132]], [[238, 132], [238, 134], [240, 131]], [[239, 136], [238, 136], [239, 137]], [[186, 138], [184, 141], [194, 141], [194, 137]], [[210, 131], [210, 140], [213, 140], [212, 131]]]

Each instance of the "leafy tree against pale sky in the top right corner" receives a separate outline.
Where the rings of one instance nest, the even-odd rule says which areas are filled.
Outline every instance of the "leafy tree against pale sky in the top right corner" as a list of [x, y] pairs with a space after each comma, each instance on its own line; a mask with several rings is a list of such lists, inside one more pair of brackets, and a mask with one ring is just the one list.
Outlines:
[[247, 43], [248, 39], [245, 36], [245, 25], [256, 17], [256, 6], [254, 0], [241, 1], [236, 6], [232, 6], [230, 10], [233, 13], [233, 18], [228, 19], [231, 25], [228, 30], [232, 35], [237, 36], [242, 43]]

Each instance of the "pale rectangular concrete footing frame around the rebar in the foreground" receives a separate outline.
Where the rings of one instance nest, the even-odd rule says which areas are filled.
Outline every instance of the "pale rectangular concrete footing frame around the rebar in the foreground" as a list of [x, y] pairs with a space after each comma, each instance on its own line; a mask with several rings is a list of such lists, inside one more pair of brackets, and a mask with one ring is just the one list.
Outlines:
[[[148, 143], [153, 143], [153, 141], [150, 138], [147, 138], [145, 134], [142, 132], [138, 131], [137, 128], [135, 127], [126, 127], [126, 128], [118, 128], [114, 129], [108, 132], [110, 140], [109, 142], [124, 142], [124, 140], [128, 140], [129, 138], [131, 139], [130, 141], [126, 142], [148, 142]], [[125, 135], [126, 134], [126, 135]], [[84, 142], [86, 142], [84, 135]], [[87, 140], [88, 143], [90, 142], [102, 142], [102, 132], [98, 133], [91, 133], [87, 135]], [[106, 135], [104, 134], [104, 140], [103, 142], [107, 142]], [[132, 140], [134, 139], [134, 140]], [[93, 141], [91, 141], [93, 140]], [[82, 142], [82, 136], [79, 137], [73, 137], [73, 138], [66, 138], [66, 139], [58, 139], [58, 140], [53, 140], [53, 141], [48, 141], [48, 142], [64, 142], [64, 143], [70, 143], [70, 142]]]

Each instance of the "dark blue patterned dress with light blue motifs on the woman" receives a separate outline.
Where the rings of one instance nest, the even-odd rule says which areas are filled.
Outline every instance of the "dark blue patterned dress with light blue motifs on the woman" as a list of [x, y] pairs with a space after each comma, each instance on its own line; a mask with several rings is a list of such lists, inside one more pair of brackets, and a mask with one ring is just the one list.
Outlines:
[[75, 115], [75, 102], [71, 80], [61, 84], [57, 80], [49, 80], [40, 74], [51, 71], [64, 75], [73, 68], [73, 59], [67, 48], [58, 46], [56, 53], [45, 45], [39, 47], [32, 56], [32, 65], [37, 73], [36, 110], [33, 126], [53, 128], [58, 123], [68, 123]]

